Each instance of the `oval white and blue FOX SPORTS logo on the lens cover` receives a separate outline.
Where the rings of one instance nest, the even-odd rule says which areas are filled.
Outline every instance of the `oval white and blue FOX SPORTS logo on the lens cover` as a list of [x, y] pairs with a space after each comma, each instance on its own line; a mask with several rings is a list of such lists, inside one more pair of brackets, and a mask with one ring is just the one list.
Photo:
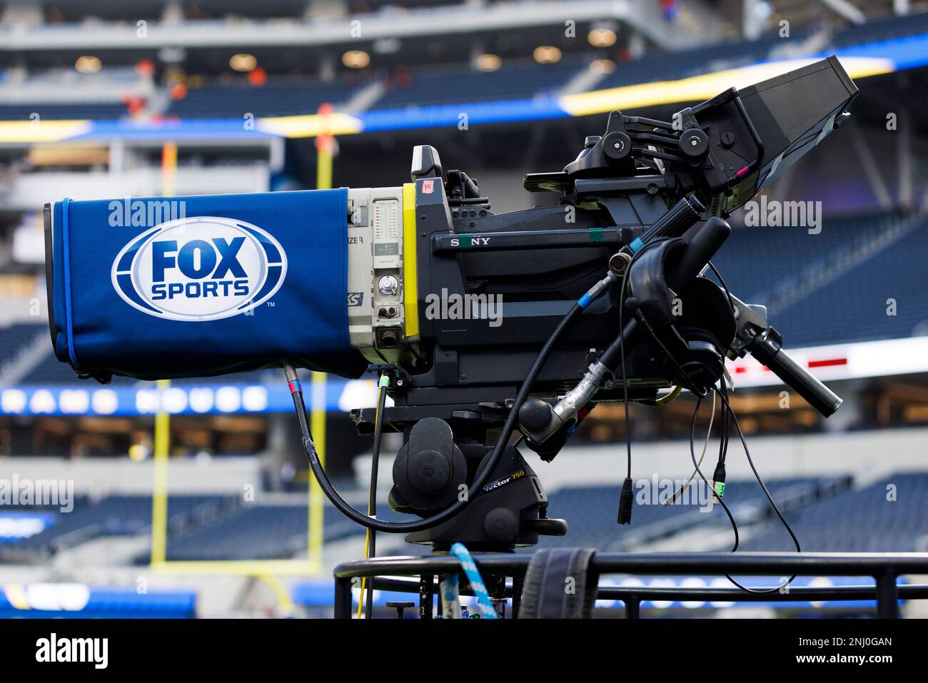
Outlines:
[[149, 316], [219, 320], [270, 299], [287, 275], [287, 254], [258, 226], [198, 216], [162, 223], [116, 256], [113, 287]]

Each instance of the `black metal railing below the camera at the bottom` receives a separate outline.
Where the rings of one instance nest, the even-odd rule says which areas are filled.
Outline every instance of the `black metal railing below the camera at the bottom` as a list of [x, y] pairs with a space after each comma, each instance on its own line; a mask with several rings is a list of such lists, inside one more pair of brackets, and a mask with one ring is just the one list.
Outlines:
[[[496, 597], [511, 598], [512, 614], [519, 612], [522, 578], [532, 560], [524, 554], [474, 554], [474, 561], [487, 577], [502, 577]], [[589, 571], [604, 576], [627, 575], [754, 575], [872, 576], [875, 586], [794, 587], [781, 592], [745, 592], [737, 587], [629, 587], [599, 586], [597, 599], [621, 599], [625, 616], [640, 617], [645, 600], [705, 600], [730, 602], [790, 602], [875, 599], [876, 615], [881, 619], [899, 616], [900, 599], [928, 599], [926, 585], [896, 585], [902, 574], [928, 573], [928, 553], [597, 553]], [[419, 618], [432, 618], [432, 602], [437, 592], [436, 578], [457, 573], [461, 594], [470, 595], [467, 578], [458, 560], [448, 556], [384, 557], [342, 562], [335, 568], [335, 617], [352, 616], [352, 582], [366, 577], [375, 590], [419, 594]], [[403, 577], [418, 577], [413, 580]], [[505, 578], [511, 577], [511, 582]], [[489, 582], [492, 583], [492, 582]]]

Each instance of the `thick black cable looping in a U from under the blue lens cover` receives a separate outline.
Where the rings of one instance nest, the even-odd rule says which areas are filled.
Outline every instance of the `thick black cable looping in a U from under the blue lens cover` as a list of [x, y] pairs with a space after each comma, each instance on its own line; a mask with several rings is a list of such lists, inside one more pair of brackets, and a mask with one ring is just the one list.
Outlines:
[[528, 394], [532, 391], [535, 380], [538, 378], [538, 375], [541, 374], [541, 370], [548, 360], [548, 355], [550, 355], [551, 350], [558, 342], [564, 329], [566, 329], [574, 321], [574, 318], [579, 316], [583, 311], [584, 308], [580, 306], [579, 303], [574, 303], [571, 309], [561, 318], [561, 322], [558, 323], [558, 326], [551, 333], [551, 336], [548, 337], [548, 341], [542, 346], [541, 351], [538, 352], [538, 355], [535, 357], [535, 362], [525, 376], [525, 380], [522, 382], [519, 392], [516, 393], [516, 398], [512, 403], [506, 421], [503, 423], [502, 431], [496, 441], [493, 452], [485, 460], [486, 464], [479, 470], [474, 483], [470, 485], [467, 496], [463, 499], [459, 499], [444, 510], [436, 512], [432, 517], [426, 517], [417, 522], [384, 522], [382, 520], [374, 520], [362, 514], [357, 509], [354, 509], [342, 498], [329, 481], [326, 470], [322, 467], [322, 463], [319, 461], [319, 455], [316, 453], [316, 445], [313, 444], [313, 434], [309, 429], [309, 423], [306, 419], [306, 405], [303, 402], [303, 389], [296, 377], [296, 370], [290, 366], [290, 364], [285, 364], [284, 368], [288, 375], [287, 379], [290, 382], [290, 394], [293, 398], [293, 406], [296, 409], [297, 420], [300, 422], [300, 432], [303, 435], [303, 450], [306, 452], [306, 457], [309, 458], [309, 467], [313, 470], [313, 475], [322, 488], [322, 492], [329, 498], [332, 505], [348, 519], [367, 529], [376, 529], [377, 531], [386, 532], [388, 534], [410, 534], [412, 532], [431, 529], [436, 524], [450, 520], [457, 515], [458, 512], [466, 508], [472, 498], [480, 494], [483, 485], [490, 478], [493, 471], [496, 470], [496, 465], [499, 464], [499, 460], [509, 444], [509, 437], [515, 429], [516, 420], [519, 418], [519, 407], [522, 406], [522, 403], [525, 402]]

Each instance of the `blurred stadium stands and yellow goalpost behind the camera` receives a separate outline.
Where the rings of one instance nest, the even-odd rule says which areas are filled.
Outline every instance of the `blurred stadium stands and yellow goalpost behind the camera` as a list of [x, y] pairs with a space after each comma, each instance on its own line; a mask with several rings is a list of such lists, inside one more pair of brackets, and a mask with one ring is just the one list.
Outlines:
[[[767, 191], [821, 201], [820, 232], [744, 227], [740, 212], [716, 264], [741, 298], [770, 306], [788, 347], [845, 403], [828, 420], [797, 396], [787, 409], [770, 373], [738, 362], [732, 405], [805, 549], [924, 551], [928, 3], [0, 2], [0, 615], [328, 615], [331, 568], [361, 556], [364, 540], [321, 498], [307, 502], [281, 372], [102, 387], [54, 359], [45, 201], [312, 188], [328, 182], [319, 148], [334, 152], [335, 186], [399, 185], [412, 146], [431, 144], [446, 167], [479, 179], [496, 212], [511, 211], [538, 198], [522, 174], [561, 170], [585, 135], [601, 133], [606, 111], [666, 119], [831, 53], [861, 91], [852, 119]], [[328, 411], [328, 468], [358, 507], [370, 443], [347, 411], [374, 399], [372, 380], [329, 378], [316, 402]], [[637, 478], [689, 476], [692, 406], [633, 406]], [[638, 505], [630, 526], [614, 523], [619, 408], [599, 407], [557, 460], [537, 463], [551, 515], [571, 524], [544, 544], [728, 549], [718, 509]], [[170, 432], [161, 469], [158, 413]], [[396, 446], [388, 439], [384, 452]], [[792, 549], [738, 445], [728, 463], [742, 548]], [[380, 479], [385, 501], [389, 476]], [[71, 511], [9, 496], [17, 483], [51, 480], [73, 484]], [[158, 481], [166, 494], [153, 498]], [[379, 554], [408, 552], [381, 536]]]

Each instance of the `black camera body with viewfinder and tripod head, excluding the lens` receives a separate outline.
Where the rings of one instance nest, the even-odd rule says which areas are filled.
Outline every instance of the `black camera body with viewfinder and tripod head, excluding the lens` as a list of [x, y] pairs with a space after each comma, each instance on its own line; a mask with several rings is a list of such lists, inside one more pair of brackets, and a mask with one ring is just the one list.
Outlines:
[[[524, 444], [549, 460], [597, 403], [625, 399], [626, 388], [628, 400], [646, 403], [665, 388], [708, 391], [727, 356], [751, 352], [830, 415], [840, 399], [781, 352], [766, 309], [701, 276], [730, 232], [723, 218], [837, 127], [856, 94], [832, 57], [732, 88], [671, 122], [612, 111], [563, 171], [524, 178], [528, 191], [559, 193], [560, 204], [514, 213], [492, 213], [467, 174], [445, 172], [437, 151], [417, 148], [406, 232], [416, 310], [406, 307], [401, 342], [411, 353], [380, 367], [394, 402], [382, 426], [404, 433], [391, 505], [428, 517], [475, 479], [487, 483], [463, 512], [407, 540], [500, 549], [566, 532], [548, 519], [515, 441], [496, 448], [509, 439], [512, 410]], [[582, 315], [559, 330], [531, 398], [514, 406], [577, 303]], [[373, 409], [354, 419], [374, 430]]]

